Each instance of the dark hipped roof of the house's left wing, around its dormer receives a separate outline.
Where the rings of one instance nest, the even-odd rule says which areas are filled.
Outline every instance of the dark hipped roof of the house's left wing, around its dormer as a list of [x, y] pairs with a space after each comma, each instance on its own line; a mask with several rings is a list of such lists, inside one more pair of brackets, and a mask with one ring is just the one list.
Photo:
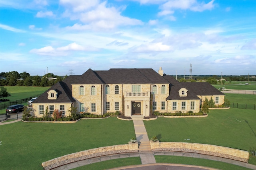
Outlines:
[[[55, 90], [58, 93], [56, 100], [48, 99], [47, 92], [49, 92], [49, 90]], [[75, 100], [72, 98], [71, 89], [68, 88], [68, 85], [65, 82], [57, 82], [51, 88], [46, 90], [46, 92], [44, 92], [36, 100], [33, 101], [33, 103], [72, 103], [72, 102], [75, 102]]]

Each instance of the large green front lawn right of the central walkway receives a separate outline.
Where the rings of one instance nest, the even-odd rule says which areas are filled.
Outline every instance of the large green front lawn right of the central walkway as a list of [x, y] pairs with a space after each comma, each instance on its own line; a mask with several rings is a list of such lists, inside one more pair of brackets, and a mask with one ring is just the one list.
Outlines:
[[[210, 110], [204, 118], [164, 118], [144, 121], [148, 138], [160, 141], [204, 143], [250, 150], [256, 147], [256, 112], [252, 109]], [[256, 164], [250, 156], [249, 163]]]

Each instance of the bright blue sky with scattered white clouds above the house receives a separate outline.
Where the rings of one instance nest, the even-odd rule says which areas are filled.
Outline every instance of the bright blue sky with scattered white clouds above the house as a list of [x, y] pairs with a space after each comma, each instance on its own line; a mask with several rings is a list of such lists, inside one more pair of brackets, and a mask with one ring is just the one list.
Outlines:
[[[255, 75], [256, 0], [1, 0], [0, 72]], [[48, 69], [47, 69], [48, 67]]]

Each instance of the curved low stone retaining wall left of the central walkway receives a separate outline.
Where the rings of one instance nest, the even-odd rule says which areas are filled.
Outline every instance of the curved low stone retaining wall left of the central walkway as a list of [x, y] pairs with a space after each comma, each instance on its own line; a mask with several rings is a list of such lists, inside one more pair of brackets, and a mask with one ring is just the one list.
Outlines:
[[62, 165], [80, 161], [80, 160], [85, 160], [88, 158], [105, 156], [109, 154], [128, 153], [128, 152], [138, 152], [138, 143], [137, 143], [137, 148], [134, 146], [131, 147], [129, 144], [125, 144], [125, 145], [100, 147], [100, 148], [84, 150], [84, 151], [76, 152], [72, 154], [67, 154], [67, 155], [60, 156], [58, 158], [54, 158], [52, 160], [43, 162], [42, 166], [44, 170], [51, 170], [58, 166], [62, 166]]

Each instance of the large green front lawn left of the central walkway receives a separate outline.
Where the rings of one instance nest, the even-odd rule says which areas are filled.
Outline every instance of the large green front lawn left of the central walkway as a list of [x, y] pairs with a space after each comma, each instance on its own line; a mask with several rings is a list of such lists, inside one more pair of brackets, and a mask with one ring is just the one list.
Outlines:
[[82, 150], [127, 144], [135, 137], [132, 121], [82, 119], [77, 123], [1, 125], [1, 170], [42, 169], [42, 162]]

